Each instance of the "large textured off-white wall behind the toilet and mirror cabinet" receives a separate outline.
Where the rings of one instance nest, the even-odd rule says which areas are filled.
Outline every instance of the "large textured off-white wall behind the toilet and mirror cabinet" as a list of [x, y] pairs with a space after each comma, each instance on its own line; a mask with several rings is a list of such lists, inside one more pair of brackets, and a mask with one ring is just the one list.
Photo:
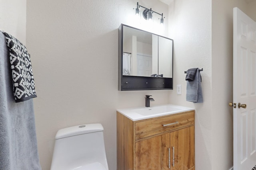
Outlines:
[[[142, 6], [164, 13], [158, 0]], [[121, 23], [167, 35], [136, 19], [136, 0], [27, 0], [27, 48], [38, 97], [34, 99], [40, 163], [49, 170], [58, 129], [102, 123], [110, 170], [116, 169], [116, 109], [169, 103], [170, 90], [118, 91], [118, 27]], [[140, 23], [141, 22], [141, 23]], [[144, 24], [145, 23], [145, 24]], [[164, 31], [166, 30], [166, 31]], [[162, 32], [164, 31], [164, 32]]]

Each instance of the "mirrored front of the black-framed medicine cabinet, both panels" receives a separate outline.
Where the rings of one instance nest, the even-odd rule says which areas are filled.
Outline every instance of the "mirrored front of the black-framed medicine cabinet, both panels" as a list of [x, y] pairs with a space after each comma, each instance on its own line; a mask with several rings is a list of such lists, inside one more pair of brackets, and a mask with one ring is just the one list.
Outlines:
[[123, 75], [172, 78], [172, 40], [123, 27]]

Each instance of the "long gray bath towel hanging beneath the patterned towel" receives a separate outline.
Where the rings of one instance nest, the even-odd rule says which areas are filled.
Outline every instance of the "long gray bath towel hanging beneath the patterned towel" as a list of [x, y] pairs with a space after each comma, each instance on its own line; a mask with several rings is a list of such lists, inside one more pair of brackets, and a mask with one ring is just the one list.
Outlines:
[[0, 170], [41, 170], [32, 99], [16, 103], [9, 51], [0, 32]]

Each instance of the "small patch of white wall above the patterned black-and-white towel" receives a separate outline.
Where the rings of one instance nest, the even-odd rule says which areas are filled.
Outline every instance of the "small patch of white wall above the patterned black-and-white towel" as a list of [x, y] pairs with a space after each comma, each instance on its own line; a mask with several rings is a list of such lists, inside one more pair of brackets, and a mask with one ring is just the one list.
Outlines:
[[0, 0], [0, 30], [26, 45], [26, 0]]

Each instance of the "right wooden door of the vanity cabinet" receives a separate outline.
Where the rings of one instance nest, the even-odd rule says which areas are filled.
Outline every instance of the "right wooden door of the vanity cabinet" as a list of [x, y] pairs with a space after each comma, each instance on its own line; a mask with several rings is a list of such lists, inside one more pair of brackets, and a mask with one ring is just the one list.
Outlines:
[[170, 133], [171, 170], [189, 170], [195, 166], [194, 126]]

